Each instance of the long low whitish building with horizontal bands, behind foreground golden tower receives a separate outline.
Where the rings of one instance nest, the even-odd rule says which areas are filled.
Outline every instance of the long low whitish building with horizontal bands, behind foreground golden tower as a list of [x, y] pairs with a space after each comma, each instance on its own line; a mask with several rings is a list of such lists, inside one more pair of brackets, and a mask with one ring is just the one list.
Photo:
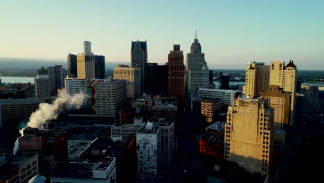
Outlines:
[[236, 98], [239, 94], [241, 94], [241, 91], [238, 90], [199, 88], [197, 92], [197, 101], [219, 98], [223, 105], [232, 105], [233, 98]]

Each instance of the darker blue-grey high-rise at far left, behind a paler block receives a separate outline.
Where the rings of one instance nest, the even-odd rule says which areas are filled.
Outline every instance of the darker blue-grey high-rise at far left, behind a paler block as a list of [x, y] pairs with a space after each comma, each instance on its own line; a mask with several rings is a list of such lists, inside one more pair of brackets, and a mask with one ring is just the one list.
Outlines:
[[48, 76], [51, 80], [51, 96], [57, 95], [57, 89], [64, 88], [64, 79], [66, 78], [66, 70], [62, 65], [47, 67]]

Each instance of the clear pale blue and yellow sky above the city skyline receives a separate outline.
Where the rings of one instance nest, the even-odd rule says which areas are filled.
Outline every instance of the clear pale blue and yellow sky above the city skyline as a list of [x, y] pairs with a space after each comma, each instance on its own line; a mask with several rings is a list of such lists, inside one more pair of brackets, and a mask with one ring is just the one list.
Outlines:
[[173, 44], [190, 51], [195, 30], [211, 69], [277, 60], [324, 69], [320, 0], [2, 1], [0, 57], [66, 60], [87, 37], [106, 62], [129, 62], [138, 39], [147, 40], [148, 62], [164, 63]]

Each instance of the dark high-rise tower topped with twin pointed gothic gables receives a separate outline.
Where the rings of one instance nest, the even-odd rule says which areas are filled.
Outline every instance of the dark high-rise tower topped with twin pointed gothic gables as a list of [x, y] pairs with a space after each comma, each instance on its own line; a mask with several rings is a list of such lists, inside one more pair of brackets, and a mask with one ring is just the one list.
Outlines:
[[145, 64], [147, 63], [147, 42], [140, 42], [140, 41], [136, 41], [133, 42], [132, 41], [132, 48], [131, 48], [131, 64], [132, 67], [138, 67], [142, 69], [141, 72], [141, 83], [143, 83], [142, 85], [142, 89], [141, 91], [143, 91], [144, 89], [144, 80], [145, 80]]

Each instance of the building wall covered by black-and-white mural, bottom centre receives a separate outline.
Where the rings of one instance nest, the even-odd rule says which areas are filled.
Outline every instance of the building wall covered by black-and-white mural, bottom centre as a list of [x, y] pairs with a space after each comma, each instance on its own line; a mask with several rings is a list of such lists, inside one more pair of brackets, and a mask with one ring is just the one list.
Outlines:
[[158, 174], [161, 134], [159, 125], [147, 123], [136, 134], [138, 177], [152, 177]]

